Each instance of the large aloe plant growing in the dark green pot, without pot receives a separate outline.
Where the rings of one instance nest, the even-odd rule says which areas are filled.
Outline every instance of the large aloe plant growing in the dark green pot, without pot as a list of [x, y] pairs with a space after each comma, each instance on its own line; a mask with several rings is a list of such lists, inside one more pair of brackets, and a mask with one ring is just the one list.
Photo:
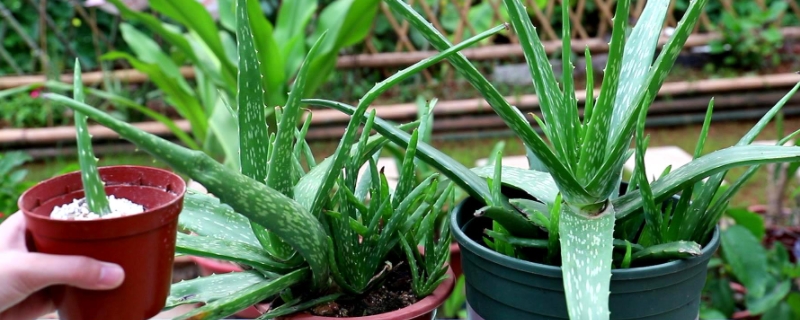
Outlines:
[[[437, 50], [452, 46], [405, 2], [384, 2]], [[417, 146], [417, 156], [470, 196], [484, 202], [485, 207], [475, 214], [495, 221], [495, 228], [487, 230], [487, 234], [493, 238], [492, 247], [496, 250], [513, 255], [514, 248], [548, 248], [547, 257], [528, 258], [561, 266], [572, 319], [609, 318], [612, 266], [629, 267], [632, 263], [657, 263], [699, 254], [701, 244], [708, 241], [719, 219], [721, 208], [724, 209], [726, 202], [746, 181], [747, 177], [742, 177], [733, 188], [718, 194], [728, 169], [800, 160], [800, 148], [749, 145], [794, 94], [795, 87], [736, 146], [700, 156], [708, 132], [709, 108], [694, 161], [664, 172], [652, 183], [644, 177], [643, 153], [647, 139], [642, 132], [648, 107], [706, 3], [707, 0], [690, 2], [675, 33], [655, 57], [669, 1], [648, 1], [630, 35], [626, 35], [630, 1], [618, 1], [609, 59], [597, 95], [591, 76], [591, 55], [588, 49], [586, 51], [590, 76], [581, 118], [572, 80], [568, 17], [563, 19], [565, 67], [559, 84], [523, 4], [518, 0], [504, 0], [511, 24], [521, 39], [540, 102], [542, 118], [533, 115], [533, 120], [549, 144], [536, 134], [520, 110], [505, 101], [463, 55], [448, 58], [526, 145], [530, 170], [501, 168], [499, 163], [470, 170], [426, 145]], [[563, 12], [568, 14], [567, 10]], [[338, 102], [309, 99], [306, 103], [358, 114], [354, 107]], [[408, 143], [407, 133], [378, 119], [375, 124], [376, 130], [392, 142]], [[629, 147], [634, 137], [636, 173], [627, 191], [620, 192], [622, 167], [634, 154]], [[704, 178], [709, 179], [703, 182]], [[525, 191], [535, 201], [506, 199], [497, 191], [499, 181]], [[677, 193], [681, 194], [680, 200], [672, 204], [670, 197]], [[643, 228], [644, 235], [640, 237]]]

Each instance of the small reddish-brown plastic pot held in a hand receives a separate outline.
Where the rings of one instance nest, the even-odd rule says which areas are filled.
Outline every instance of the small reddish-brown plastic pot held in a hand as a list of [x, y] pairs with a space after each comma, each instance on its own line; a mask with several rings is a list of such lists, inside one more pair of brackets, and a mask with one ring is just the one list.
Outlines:
[[105, 191], [145, 207], [145, 212], [101, 220], [50, 219], [53, 207], [83, 198], [80, 172], [45, 180], [19, 198], [31, 250], [80, 255], [119, 264], [125, 281], [113, 290], [51, 287], [59, 317], [141, 320], [157, 315], [171, 285], [178, 214], [186, 184], [169, 171], [139, 166], [99, 169]]

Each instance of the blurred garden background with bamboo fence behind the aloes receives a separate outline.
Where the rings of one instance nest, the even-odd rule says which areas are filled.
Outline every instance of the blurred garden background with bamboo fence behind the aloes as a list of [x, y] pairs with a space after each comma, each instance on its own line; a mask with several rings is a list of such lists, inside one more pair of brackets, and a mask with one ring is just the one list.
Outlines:
[[[631, 6], [633, 23], [643, 1]], [[545, 43], [556, 41], [562, 25], [561, 1], [524, 2]], [[672, 2], [665, 38], [689, 2]], [[604, 64], [603, 44], [610, 35], [614, 3], [568, 1], [574, 20], [575, 61], [582, 61], [583, 46], [590, 46], [594, 60]], [[414, 0], [413, 6], [451, 42], [507, 21], [501, 0]], [[14, 212], [16, 197], [33, 183], [77, 169], [71, 156], [72, 114], [38, 98], [42, 92], [71, 90], [71, 77], [61, 75], [71, 73], [75, 58], [84, 69], [87, 103], [236, 166], [229, 161], [237, 151], [229, 146], [238, 143], [232, 129], [235, 110], [229, 103], [237, 72], [232, 9], [231, 0], [0, 0], [0, 212]], [[299, 57], [323, 30], [328, 30], [330, 41], [324, 57], [313, 65], [315, 79], [310, 88], [311, 95], [319, 98], [356, 102], [376, 82], [432, 50], [380, 0], [260, 0], [252, 9], [260, 10], [264, 18], [259, 22], [263, 28], [258, 38], [264, 40], [257, 43], [259, 51], [274, 62], [264, 66], [275, 70], [264, 80], [269, 107], [285, 102]], [[184, 15], [187, 12], [191, 18]], [[715, 89], [703, 92], [686, 89], [660, 96], [654, 110], [661, 111], [654, 115], [653, 127], [647, 128], [651, 146], [693, 150], [700, 131], [697, 120], [702, 121], [712, 96], [719, 107], [706, 150], [735, 143], [752, 127], [759, 108], [774, 104], [774, 97], [785, 93], [782, 88], [794, 84], [789, 83], [790, 76], [800, 70], [800, 3], [795, 0], [710, 1], [695, 36], [700, 40], [684, 50], [667, 81], [688, 88], [700, 81], [730, 82], [704, 84]], [[534, 100], [530, 76], [526, 67], [520, 67], [524, 64], [521, 55], [515, 53], [517, 43], [513, 33], [501, 32], [481, 42], [471, 53], [480, 58], [472, 60], [501, 93], [519, 99], [527, 108], [524, 111], [538, 112], [530, 102]], [[560, 49], [546, 49], [554, 68], [560, 69]], [[586, 81], [582, 70], [582, 65], [575, 68], [578, 87]], [[595, 83], [600, 83], [602, 73], [595, 75]], [[752, 80], [757, 76], [779, 80]], [[748, 81], [734, 79], [751, 79], [758, 86], [739, 88]], [[782, 82], [773, 85], [776, 81]], [[429, 125], [431, 133], [425, 142], [467, 166], [475, 166], [498, 145], [504, 154], [524, 155], [522, 144], [504, 135], [496, 116], [476, 97], [477, 92], [448, 63], [441, 63], [392, 88], [376, 104], [385, 107], [379, 115], [398, 122], [413, 120], [422, 107], [435, 104], [436, 119]], [[697, 101], [702, 103], [695, 108]], [[341, 134], [342, 121], [329, 110], [308, 111], [313, 116], [309, 140], [320, 151], [316, 156], [321, 161], [333, 153], [338, 141], [331, 140]], [[771, 124], [758, 139], [776, 140], [784, 129], [800, 128], [797, 115], [800, 99], [790, 101], [785, 118]], [[57, 134], [59, 128], [70, 134]], [[114, 136], [100, 134], [96, 140], [100, 165], [163, 167]], [[391, 147], [382, 155], [396, 156]], [[735, 199], [730, 223], [747, 233], [734, 228], [723, 237], [752, 237], [723, 241], [707, 287], [705, 318], [720, 314], [741, 319], [800, 318], [797, 284], [789, 281], [788, 291], [784, 285], [797, 276], [798, 268], [793, 255], [794, 241], [800, 237], [797, 167], [762, 168]], [[420, 167], [421, 178], [431, 172]], [[730, 178], [743, 172], [734, 169]], [[785, 244], [786, 251], [776, 249], [776, 243]], [[763, 254], [739, 257], [731, 249], [737, 246]], [[768, 275], [752, 280], [739, 263], [758, 266]], [[462, 307], [463, 296], [454, 296], [441, 312], [457, 318], [464, 315]]]

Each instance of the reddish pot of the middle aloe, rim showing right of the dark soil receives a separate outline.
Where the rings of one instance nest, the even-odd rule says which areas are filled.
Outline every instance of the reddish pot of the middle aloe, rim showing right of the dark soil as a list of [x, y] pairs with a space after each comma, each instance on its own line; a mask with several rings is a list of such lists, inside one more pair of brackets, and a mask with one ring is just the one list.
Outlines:
[[453, 269], [447, 268], [447, 279], [442, 281], [433, 293], [417, 303], [392, 312], [376, 314], [366, 317], [320, 317], [307, 312], [293, 314], [279, 318], [280, 320], [433, 320], [436, 309], [441, 306], [453, 292], [455, 275]]

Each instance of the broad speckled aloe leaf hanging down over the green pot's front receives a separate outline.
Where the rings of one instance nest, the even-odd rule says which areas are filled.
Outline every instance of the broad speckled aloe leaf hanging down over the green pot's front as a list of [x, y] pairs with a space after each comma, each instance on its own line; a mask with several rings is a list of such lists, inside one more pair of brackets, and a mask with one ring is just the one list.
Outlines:
[[573, 208], [561, 207], [558, 226], [567, 310], [571, 319], [608, 319], [614, 209], [607, 204], [595, 214]]

